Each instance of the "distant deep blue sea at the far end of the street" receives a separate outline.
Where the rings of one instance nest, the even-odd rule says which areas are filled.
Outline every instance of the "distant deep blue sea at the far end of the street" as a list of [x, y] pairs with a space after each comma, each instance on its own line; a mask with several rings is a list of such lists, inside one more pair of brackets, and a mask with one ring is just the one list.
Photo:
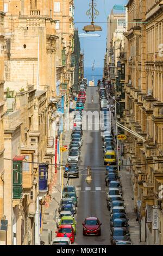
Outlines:
[[97, 86], [97, 82], [99, 79], [103, 78], [103, 68], [96, 68], [95, 70], [92, 70], [91, 67], [84, 68], [84, 77], [87, 78], [88, 81], [92, 81], [92, 77], [95, 81], [95, 86]]

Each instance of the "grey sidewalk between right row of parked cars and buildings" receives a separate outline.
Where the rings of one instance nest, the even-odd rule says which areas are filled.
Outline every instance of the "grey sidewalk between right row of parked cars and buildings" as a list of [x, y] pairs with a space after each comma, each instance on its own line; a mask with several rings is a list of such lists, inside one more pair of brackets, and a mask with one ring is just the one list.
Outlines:
[[[112, 100], [111, 100], [112, 103]], [[115, 118], [113, 117], [113, 114], [111, 113], [111, 122], [112, 127], [114, 128], [114, 136], [116, 135], [116, 124], [115, 124]], [[116, 140], [115, 140], [116, 145]], [[120, 160], [122, 163], [122, 157], [120, 156]], [[122, 192], [123, 192], [123, 199], [124, 199], [124, 205], [126, 205], [126, 214], [129, 218], [129, 232], [130, 232], [130, 238], [133, 245], [146, 245], [146, 243], [140, 242], [139, 239], [139, 222], [136, 222], [136, 213], [134, 212], [134, 191], [133, 187], [131, 185], [131, 178], [130, 173], [126, 170], [125, 167], [121, 167], [120, 170], [120, 177], [121, 177], [121, 183], [122, 183]]]

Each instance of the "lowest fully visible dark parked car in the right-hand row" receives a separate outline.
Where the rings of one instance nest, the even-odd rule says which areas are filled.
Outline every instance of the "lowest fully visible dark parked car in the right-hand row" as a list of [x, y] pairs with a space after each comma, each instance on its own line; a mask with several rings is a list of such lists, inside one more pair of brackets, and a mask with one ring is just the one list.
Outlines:
[[130, 241], [130, 234], [127, 228], [113, 228], [110, 237], [111, 245], [118, 241]]

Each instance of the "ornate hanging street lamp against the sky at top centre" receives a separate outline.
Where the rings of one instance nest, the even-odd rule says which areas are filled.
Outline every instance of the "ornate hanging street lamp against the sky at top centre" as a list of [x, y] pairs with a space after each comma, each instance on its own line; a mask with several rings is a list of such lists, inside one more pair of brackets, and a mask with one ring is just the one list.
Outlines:
[[95, 8], [96, 3], [94, 3], [94, 0], [92, 0], [92, 3], [89, 4], [91, 7], [89, 10], [87, 10], [86, 15], [91, 16], [91, 25], [87, 25], [83, 28], [83, 30], [87, 32], [94, 32], [94, 31], [102, 31], [102, 28], [100, 26], [95, 25], [94, 19], [96, 19], [95, 16], [99, 15], [99, 11]]

